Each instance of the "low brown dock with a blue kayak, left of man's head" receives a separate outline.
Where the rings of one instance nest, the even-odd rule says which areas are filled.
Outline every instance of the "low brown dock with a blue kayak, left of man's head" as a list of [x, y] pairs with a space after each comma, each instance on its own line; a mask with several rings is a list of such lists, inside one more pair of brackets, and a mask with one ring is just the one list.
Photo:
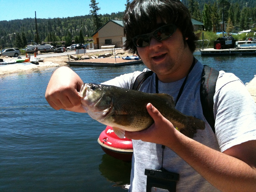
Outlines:
[[122, 66], [142, 63], [141, 60], [124, 60], [122, 58], [99, 58], [68, 61], [68, 65], [83, 65], [83, 66]]

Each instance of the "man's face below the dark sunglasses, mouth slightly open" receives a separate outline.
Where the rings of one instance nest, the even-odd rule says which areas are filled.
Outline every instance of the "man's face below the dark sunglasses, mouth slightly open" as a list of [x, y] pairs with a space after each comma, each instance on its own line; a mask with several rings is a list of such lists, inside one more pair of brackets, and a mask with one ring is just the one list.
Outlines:
[[163, 41], [151, 37], [148, 46], [137, 47], [137, 50], [144, 64], [154, 71], [162, 82], [171, 82], [172, 79], [179, 78], [176, 77], [179, 76], [179, 70], [183, 70], [184, 61], [189, 61], [187, 56], [192, 54], [188, 46], [184, 45], [179, 29]]

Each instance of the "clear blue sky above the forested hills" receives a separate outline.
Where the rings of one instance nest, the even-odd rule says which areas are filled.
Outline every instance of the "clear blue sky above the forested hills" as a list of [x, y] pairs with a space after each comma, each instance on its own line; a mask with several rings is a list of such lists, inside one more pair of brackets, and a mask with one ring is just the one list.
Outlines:
[[[126, 0], [96, 0], [99, 14], [125, 10]], [[48, 19], [90, 14], [91, 0], [0, 0], [0, 21], [24, 18]]]

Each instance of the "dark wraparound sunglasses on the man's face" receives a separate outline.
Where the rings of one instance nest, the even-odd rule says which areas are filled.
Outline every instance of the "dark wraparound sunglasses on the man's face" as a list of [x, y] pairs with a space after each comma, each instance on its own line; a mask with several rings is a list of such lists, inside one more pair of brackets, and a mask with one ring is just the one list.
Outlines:
[[151, 37], [154, 37], [158, 41], [163, 41], [170, 37], [176, 29], [177, 27], [173, 24], [164, 25], [151, 33], [137, 35], [132, 38], [132, 41], [136, 47], [146, 47], [149, 45]]

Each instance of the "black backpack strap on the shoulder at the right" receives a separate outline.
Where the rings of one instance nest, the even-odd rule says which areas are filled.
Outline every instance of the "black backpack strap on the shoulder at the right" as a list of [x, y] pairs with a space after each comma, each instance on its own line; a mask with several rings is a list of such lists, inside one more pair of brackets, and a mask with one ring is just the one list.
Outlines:
[[216, 82], [219, 76], [219, 71], [213, 69], [207, 65], [204, 65], [202, 73], [201, 87], [200, 87], [200, 99], [203, 108], [203, 114], [207, 122], [212, 127], [212, 131], [215, 133], [215, 119], [213, 115], [213, 96], [215, 94]]

